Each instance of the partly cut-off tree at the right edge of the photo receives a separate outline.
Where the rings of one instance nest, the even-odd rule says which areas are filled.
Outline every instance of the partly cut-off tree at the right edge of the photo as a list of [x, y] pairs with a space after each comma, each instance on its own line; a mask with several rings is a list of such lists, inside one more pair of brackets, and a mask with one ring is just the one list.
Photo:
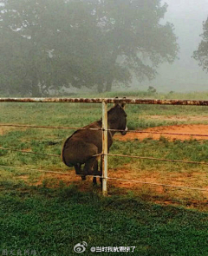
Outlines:
[[203, 31], [203, 34], [200, 35], [202, 41], [198, 45], [198, 50], [193, 52], [193, 58], [199, 62], [199, 66], [203, 70], [208, 72], [208, 18], [203, 23]]

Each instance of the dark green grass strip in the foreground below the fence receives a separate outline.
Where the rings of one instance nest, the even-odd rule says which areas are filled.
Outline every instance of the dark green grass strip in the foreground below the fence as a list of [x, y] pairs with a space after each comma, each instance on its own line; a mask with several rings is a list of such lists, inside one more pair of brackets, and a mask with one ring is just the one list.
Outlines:
[[77, 254], [73, 247], [86, 241], [83, 255], [114, 255], [90, 253], [92, 246], [136, 246], [129, 253], [134, 255], [207, 255], [207, 213], [131, 196], [101, 198], [75, 187], [7, 185], [0, 200], [4, 250], [67, 256]]

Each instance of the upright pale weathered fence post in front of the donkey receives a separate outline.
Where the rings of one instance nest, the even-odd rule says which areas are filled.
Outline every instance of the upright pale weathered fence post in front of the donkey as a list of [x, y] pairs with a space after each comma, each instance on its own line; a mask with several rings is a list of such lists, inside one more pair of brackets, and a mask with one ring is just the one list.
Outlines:
[[102, 102], [102, 194], [107, 195], [107, 103]]

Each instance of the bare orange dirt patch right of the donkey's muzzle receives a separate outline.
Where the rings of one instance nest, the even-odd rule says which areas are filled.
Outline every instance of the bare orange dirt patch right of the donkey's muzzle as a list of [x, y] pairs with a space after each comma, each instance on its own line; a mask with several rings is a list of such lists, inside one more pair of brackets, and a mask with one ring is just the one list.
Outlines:
[[[138, 132], [140, 133], [128, 132], [127, 135], [125, 136], [117, 134], [114, 136], [114, 138], [119, 141], [144, 140], [146, 138], [159, 140], [159, 138], [162, 136], [171, 141], [173, 140], [185, 141], [185, 140], [191, 140], [191, 139], [208, 140], [208, 125], [205, 125], [205, 124], [184, 124], [184, 125], [173, 125], [173, 126], [161, 126], [156, 128], [146, 128]], [[203, 136], [203, 135], [207, 135], [207, 136]]]

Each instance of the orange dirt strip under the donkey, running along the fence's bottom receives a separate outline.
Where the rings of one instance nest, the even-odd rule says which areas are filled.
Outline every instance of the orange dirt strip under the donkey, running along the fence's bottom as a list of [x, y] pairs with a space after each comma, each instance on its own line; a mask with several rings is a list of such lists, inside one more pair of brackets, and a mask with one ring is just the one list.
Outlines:
[[[200, 176], [200, 179], [198, 179], [198, 176]], [[143, 200], [162, 205], [185, 205], [185, 207], [201, 210], [207, 209], [208, 206], [208, 184], [205, 172], [200, 174], [197, 172], [171, 172], [165, 175], [159, 170], [144, 172], [139, 169], [132, 169], [127, 165], [123, 168], [109, 169], [108, 177], [113, 178], [107, 181], [109, 195], [132, 192]], [[81, 177], [76, 175], [74, 170], [68, 171], [68, 174], [40, 174], [36, 181], [29, 180], [29, 175], [22, 175], [20, 179], [31, 186], [41, 187], [68, 187], [74, 184], [82, 192], [90, 192], [95, 189], [101, 194], [100, 181], [98, 181], [98, 186], [94, 187], [93, 177], [88, 176], [86, 181], [81, 181]], [[166, 187], [159, 184], [200, 187], [207, 191]]]

